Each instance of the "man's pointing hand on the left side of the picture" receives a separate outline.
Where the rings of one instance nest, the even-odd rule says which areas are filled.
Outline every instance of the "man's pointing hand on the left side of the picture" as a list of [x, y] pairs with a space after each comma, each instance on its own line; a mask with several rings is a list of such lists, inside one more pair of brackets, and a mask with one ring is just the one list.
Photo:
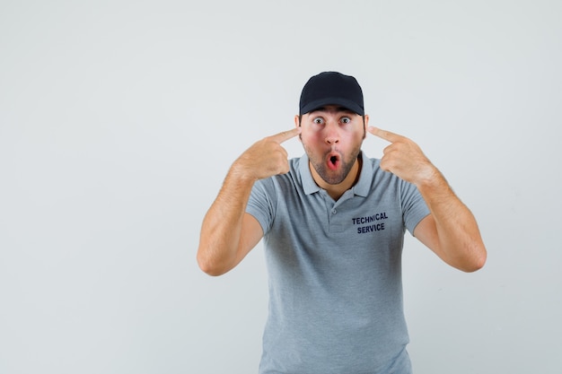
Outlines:
[[240, 177], [251, 178], [254, 181], [287, 173], [289, 161], [281, 144], [300, 133], [301, 127], [295, 127], [261, 139], [234, 161], [233, 170]]

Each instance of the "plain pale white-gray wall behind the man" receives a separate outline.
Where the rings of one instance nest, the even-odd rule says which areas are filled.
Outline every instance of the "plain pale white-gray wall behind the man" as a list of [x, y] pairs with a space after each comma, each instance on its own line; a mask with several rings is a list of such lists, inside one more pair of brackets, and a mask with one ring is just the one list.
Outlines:
[[199, 228], [325, 70], [420, 144], [487, 244], [463, 274], [408, 236], [414, 370], [559, 373], [561, 19], [558, 0], [0, 1], [0, 373], [257, 372], [261, 244], [212, 278]]

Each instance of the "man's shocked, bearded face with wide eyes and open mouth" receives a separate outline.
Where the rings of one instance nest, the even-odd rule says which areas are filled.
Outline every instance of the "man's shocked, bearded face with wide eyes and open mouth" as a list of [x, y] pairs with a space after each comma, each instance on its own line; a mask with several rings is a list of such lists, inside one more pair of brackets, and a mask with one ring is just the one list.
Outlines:
[[[312, 168], [329, 185], [338, 185], [352, 170], [361, 151], [365, 119], [338, 106], [326, 106], [304, 114], [301, 141]], [[298, 126], [298, 116], [295, 117]], [[314, 173], [312, 173], [314, 174]]]

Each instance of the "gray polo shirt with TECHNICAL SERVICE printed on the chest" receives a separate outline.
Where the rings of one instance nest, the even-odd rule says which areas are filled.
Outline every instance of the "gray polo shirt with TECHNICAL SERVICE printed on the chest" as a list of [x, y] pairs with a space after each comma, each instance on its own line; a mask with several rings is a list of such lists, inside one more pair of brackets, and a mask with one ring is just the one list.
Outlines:
[[361, 157], [338, 201], [306, 155], [253, 187], [247, 212], [264, 231], [269, 276], [262, 374], [411, 371], [401, 253], [429, 211], [415, 186]]

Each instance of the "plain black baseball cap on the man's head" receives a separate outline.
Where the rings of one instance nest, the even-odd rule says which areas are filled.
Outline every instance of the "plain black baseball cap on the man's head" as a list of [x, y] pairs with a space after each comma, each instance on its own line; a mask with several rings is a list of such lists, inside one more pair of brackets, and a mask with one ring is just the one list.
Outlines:
[[364, 116], [363, 91], [356, 78], [338, 72], [323, 72], [304, 84], [299, 114], [326, 105], [340, 105]]

